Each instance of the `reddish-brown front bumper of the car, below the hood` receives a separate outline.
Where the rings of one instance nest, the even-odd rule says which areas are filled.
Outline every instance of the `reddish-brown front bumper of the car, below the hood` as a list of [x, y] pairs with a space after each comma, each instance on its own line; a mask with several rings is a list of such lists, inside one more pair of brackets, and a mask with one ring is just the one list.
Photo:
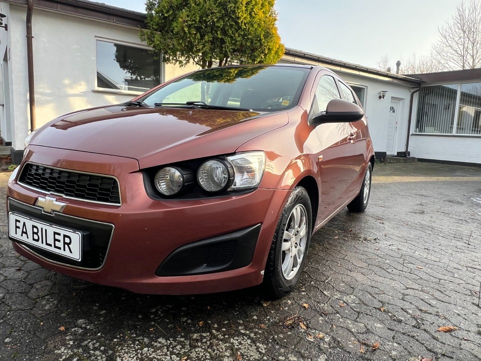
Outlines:
[[92, 250], [92, 244], [103, 247], [91, 255], [96, 258], [104, 252], [97, 263], [64, 262], [13, 240], [23, 256], [76, 278], [137, 293], [211, 293], [262, 282], [288, 191], [258, 189], [222, 198], [156, 201], [147, 196], [142, 173], [132, 159], [69, 151], [63, 154], [61, 164], [52, 164], [60, 150], [42, 148], [31, 152], [28, 160], [118, 178], [122, 204], [55, 196], [66, 206], [62, 214], [46, 215], [35, 206], [45, 194], [24, 187], [13, 177], [8, 188], [9, 212], [87, 232], [94, 231], [86, 227], [101, 225], [104, 232], [96, 236], [95, 230], [93, 238], [86, 238], [91, 243], [86, 249]]

